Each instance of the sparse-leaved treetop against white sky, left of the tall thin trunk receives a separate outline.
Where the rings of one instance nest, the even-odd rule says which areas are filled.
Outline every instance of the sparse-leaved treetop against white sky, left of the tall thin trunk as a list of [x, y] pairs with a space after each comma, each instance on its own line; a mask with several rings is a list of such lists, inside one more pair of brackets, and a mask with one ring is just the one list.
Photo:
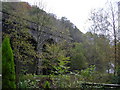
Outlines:
[[89, 18], [91, 23], [90, 31], [94, 34], [98, 33], [107, 36], [107, 31], [109, 31], [110, 27], [108, 19], [108, 12], [106, 12], [103, 8], [92, 10]]

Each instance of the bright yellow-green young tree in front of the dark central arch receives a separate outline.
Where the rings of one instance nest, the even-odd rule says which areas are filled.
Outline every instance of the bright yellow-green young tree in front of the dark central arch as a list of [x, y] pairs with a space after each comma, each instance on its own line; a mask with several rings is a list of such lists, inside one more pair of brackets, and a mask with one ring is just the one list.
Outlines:
[[69, 63], [69, 57], [66, 51], [62, 49], [60, 44], [46, 45], [46, 52], [43, 52], [43, 67], [49, 68], [54, 74], [64, 74], [69, 69], [66, 66]]

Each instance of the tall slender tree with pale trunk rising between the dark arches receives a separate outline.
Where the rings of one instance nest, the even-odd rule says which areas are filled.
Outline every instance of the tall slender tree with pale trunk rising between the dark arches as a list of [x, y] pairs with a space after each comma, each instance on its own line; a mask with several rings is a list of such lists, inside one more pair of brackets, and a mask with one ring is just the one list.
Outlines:
[[[50, 21], [49, 15], [43, 10], [44, 5], [42, 5], [42, 2], [39, 2], [36, 4], [39, 4], [39, 5], [33, 6], [30, 11], [30, 14], [33, 15], [32, 20], [37, 23], [37, 29], [36, 29], [37, 54], [40, 55], [40, 52], [42, 52], [41, 51], [42, 34], [46, 27], [47, 27], [47, 30], [49, 31], [49, 26], [51, 24], [51, 21]], [[42, 74], [42, 71], [39, 68], [41, 65], [42, 65], [42, 60], [38, 58], [37, 74]]]

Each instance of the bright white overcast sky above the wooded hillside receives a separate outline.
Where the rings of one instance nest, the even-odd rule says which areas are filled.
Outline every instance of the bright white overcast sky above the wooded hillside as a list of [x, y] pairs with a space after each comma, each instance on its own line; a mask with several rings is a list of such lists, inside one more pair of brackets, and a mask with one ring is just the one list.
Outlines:
[[80, 31], [86, 32], [87, 20], [91, 9], [105, 7], [107, 1], [116, 2], [119, 0], [21, 0], [35, 4], [42, 2], [45, 11], [55, 14], [58, 18], [65, 16]]

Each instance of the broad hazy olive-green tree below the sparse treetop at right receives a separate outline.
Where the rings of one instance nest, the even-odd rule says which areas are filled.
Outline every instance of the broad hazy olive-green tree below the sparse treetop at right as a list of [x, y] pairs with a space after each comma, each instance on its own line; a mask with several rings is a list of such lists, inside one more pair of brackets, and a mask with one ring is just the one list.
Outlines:
[[[111, 47], [104, 35], [84, 34], [83, 48], [88, 65], [95, 65], [96, 71], [106, 72], [111, 68]], [[109, 69], [108, 69], [109, 67]]]

